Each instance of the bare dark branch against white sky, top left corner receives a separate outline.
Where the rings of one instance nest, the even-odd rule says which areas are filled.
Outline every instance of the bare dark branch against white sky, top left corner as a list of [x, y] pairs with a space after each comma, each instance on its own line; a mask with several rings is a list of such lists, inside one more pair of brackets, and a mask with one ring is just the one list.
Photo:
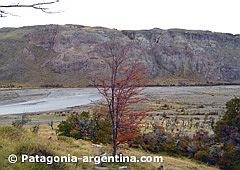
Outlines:
[[54, 13], [53, 11], [49, 10], [48, 5], [52, 5], [55, 3], [58, 3], [59, 0], [49, 0], [49, 1], [41, 1], [31, 4], [22, 4], [22, 3], [16, 3], [16, 4], [7, 4], [7, 5], [0, 5], [0, 17], [7, 17], [9, 15], [14, 15], [13, 13], [8, 12], [7, 9], [9, 8], [32, 8], [41, 10], [44, 13]]

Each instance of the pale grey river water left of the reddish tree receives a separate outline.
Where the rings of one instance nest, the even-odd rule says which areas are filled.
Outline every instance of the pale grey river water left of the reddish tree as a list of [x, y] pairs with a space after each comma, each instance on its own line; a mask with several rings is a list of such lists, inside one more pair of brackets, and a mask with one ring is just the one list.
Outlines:
[[97, 90], [92, 88], [28, 89], [0, 93], [0, 115], [64, 110], [101, 99]]

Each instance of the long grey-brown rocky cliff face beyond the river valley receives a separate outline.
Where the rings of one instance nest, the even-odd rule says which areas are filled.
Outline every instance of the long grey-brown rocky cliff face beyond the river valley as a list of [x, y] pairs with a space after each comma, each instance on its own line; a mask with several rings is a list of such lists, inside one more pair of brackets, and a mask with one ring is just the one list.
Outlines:
[[101, 69], [91, 51], [112, 35], [135, 40], [148, 68], [149, 84], [240, 82], [240, 35], [209, 31], [119, 31], [79, 25], [0, 29], [0, 81], [22, 84], [87, 85]]

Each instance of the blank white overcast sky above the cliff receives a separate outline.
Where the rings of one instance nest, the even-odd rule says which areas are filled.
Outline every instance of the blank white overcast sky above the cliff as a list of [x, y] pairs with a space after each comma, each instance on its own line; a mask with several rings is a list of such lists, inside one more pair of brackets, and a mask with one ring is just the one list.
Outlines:
[[[1, 0], [0, 4], [31, 1], [37, 0]], [[60, 0], [51, 9], [63, 12], [8, 10], [19, 16], [0, 18], [0, 27], [79, 24], [121, 30], [158, 27], [240, 34], [240, 0]]]

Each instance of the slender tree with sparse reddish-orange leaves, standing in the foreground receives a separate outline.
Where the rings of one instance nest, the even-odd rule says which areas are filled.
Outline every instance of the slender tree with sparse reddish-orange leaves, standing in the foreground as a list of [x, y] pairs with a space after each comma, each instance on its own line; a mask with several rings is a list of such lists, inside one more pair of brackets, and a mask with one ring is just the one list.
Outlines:
[[131, 111], [130, 108], [143, 100], [140, 92], [146, 71], [142, 63], [130, 60], [131, 47], [132, 43], [122, 44], [113, 39], [98, 48], [105, 71], [95, 75], [94, 85], [107, 103], [112, 124], [113, 155], [116, 155], [118, 144], [138, 133], [136, 129], [144, 116], [142, 112]]

